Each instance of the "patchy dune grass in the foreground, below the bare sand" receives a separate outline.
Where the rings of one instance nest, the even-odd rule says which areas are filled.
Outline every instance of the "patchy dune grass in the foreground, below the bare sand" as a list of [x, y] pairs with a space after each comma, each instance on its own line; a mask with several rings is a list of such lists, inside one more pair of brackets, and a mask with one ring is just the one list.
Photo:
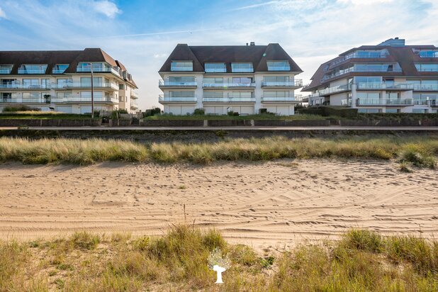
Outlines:
[[[77, 245], [77, 242], [81, 242]], [[96, 243], [97, 242], [99, 243]], [[76, 242], [76, 243], [75, 243]], [[216, 285], [208, 256], [230, 259]], [[0, 242], [0, 291], [437, 291], [438, 242], [349, 230], [338, 242], [265, 249], [217, 230], [174, 225], [162, 237], [92, 235]]]

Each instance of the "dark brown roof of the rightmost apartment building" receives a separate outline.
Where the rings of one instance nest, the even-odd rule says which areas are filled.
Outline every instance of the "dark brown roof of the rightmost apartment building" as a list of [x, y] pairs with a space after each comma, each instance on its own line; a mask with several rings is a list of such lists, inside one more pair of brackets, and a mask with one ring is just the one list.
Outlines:
[[[355, 50], [383, 50], [386, 49], [389, 52], [389, 55], [384, 58], [352, 58], [348, 60], [342, 61], [342, 58], [345, 55], [348, 55]], [[390, 45], [362, 45], [361, 47], [354, 47], [351, 50], [347, 50], [347, 52], [343, 52], [339, 55], [339, 57], [335, 57], [334, 59], [327, 61], [318, 67], [315, 74], [311, 78], [311, 82], [308, 86], [305, 86], [302, 91], [313, 91], [317, 89], [319, 86], [324, 86], [333, 82], [336, 79], [344, 79], [346, 77], [352, 76], [406, 76], [406, 77], [437, 77], [437, 72], [417, 72], [415, 68], [415, 62], [435, 62], [438, 63], [437, 58], [428, 58], [428, 57], [420, 57], [419, 55], [413, 52], [413, 49], [418, 50], [435, 50], [437, 47], [434, 45], [405, 45], [402, 47], [393, 47]], [[402, 72], [349, 72], [347, 74], [343, 74], [339, 77], [334, 77], [331, 79], [325, 79], [322, 81], [322, 77], [324, 77], [326, 72], [333, 71], [335, 68], [348, 67], [348, 65], [352, 65], [354, 63], [381, 63], [381, 62], [398, 62], [402, 69]]]

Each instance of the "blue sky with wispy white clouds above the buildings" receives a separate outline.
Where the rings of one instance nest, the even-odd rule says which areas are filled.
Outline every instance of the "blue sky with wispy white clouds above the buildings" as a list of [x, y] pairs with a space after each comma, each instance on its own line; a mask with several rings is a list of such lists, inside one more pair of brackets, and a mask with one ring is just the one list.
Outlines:
[[352, 47], [405, 38], [438, 45], [438, 0], [0, 0], [0, 50], [101, 47], [159, 106], [157, 73], [178, 43], [279, 43], [303, 69]]

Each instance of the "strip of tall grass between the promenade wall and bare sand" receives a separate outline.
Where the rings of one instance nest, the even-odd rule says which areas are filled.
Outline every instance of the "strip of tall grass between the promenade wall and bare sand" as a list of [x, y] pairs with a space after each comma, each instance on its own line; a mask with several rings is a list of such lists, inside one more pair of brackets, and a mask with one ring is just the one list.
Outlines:
[[436, 167], [438, 137], [265, 137], [220, 142], [140, 144], [125, 140], [0, 138], [0, 161], [24, 164], [123, 162], [263, 161], [281, 158], [399, 159], [416, 167]]

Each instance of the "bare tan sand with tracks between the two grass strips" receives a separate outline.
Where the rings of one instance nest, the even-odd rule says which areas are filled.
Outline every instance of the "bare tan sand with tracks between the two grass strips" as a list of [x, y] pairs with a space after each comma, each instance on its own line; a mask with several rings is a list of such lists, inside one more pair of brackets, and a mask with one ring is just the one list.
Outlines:
[[184, 222], [255, 248], [336, 239], [348, 228], [437, 237], [438, 172], [326, 159], [0, 165], [1, 239], [76, 230], [160, 235]]

